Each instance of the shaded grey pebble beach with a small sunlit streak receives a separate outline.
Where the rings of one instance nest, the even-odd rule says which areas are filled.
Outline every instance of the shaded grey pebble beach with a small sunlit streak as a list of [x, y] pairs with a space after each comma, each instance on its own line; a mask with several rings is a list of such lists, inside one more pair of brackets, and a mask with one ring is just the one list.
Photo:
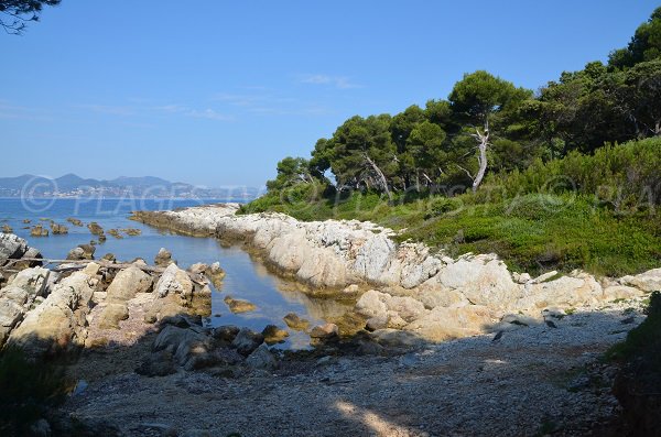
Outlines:
[[478, 336], [398, 357], [326, 358], [294, 374], [145, 378], [118, 369], [63, 412], [128, 436], [599, 435], [618, 405], [615, 369], [598, 359], [642, 321], [631, 306], [640, 303], [579, 309], [554, 319], [556, 328], [522, 327], [496, 341]]

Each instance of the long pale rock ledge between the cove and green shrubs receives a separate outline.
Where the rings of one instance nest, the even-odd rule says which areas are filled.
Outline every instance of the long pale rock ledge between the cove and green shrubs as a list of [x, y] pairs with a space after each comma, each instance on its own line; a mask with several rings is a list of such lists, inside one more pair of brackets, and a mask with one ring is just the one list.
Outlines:
[[594, 310], [608, 302], [640, 301], [651, 285], [661, 283], [661, 269], [619, 280], [581, 271], [533, 278], [510, 272], [496, 254], [452, 259], [432, 253], [423, 243], [397, 243], [393, 230], [371, 222], [303, 222], [275, 212], [237, 215], [238, 209], [238, 204], [221, 204], [137, 211], [132, 219], [243, 244], [268, 266], [314, 292], [356, 298], [356, 313], [377, 335], [395, 329], [443, 341], [518, 329], [531, 320], [544, 323], [549, 314], [563, 309]]

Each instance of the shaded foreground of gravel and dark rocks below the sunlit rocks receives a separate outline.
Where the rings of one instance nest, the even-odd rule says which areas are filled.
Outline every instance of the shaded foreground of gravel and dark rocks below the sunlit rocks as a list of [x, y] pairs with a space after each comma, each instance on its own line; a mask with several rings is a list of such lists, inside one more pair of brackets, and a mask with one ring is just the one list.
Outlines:
[[[55, 436], [621, 436], [603, 353], [642, 319], [573, 314], [440, 345], [359, 332], [256, 357], [266, 347], [246, 345], [263, 339], [178, 315], [130, 346], [25, 345], [65, 370], [68, 394], [44, 416]], [[31, 402], [15, 396], [3, 402]]]

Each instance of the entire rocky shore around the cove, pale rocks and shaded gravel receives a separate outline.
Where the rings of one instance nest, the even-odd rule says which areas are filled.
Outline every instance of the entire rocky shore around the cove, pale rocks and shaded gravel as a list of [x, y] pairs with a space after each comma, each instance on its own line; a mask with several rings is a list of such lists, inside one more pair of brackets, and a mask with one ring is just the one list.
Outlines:
[[237, 209], [133, 218], [243, 244], [308, 293], [354, 302], [344, 324], [285, 316], [313, 350], [273, 349], [288, 336], [277, 326], [205, 327], [218, 265], [184, 270], [165, 250], [154, 265], [94, 260], [84, 245], [45, 269], [36, 249], [0, 233], [0, 346], [36, 360], [65, 352], [78, 382], [47, 417], [54, 435], [617, 435], [617, 369], [598, 358], [644, 319], [661, 271], [532, 278], [495, 255], [398, 244], [372, 223]]

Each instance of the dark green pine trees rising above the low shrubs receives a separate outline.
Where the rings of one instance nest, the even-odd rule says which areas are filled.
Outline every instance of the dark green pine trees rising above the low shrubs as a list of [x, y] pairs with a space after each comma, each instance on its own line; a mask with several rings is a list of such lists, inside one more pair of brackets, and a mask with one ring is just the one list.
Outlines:
[[424, 108], [349, 118], [316, 142], [310, 161], [279, 163], [268, 186], [295, 181], [388, 196], [460, 193], [477, 189], [489, 174], [523, 171], [538, 160], [659, 135], [661, 8], [626, 48], [611, 52], [608, 64], [565, 72], [535, 94], [485, 70], [466, 74], [447, 99]]

